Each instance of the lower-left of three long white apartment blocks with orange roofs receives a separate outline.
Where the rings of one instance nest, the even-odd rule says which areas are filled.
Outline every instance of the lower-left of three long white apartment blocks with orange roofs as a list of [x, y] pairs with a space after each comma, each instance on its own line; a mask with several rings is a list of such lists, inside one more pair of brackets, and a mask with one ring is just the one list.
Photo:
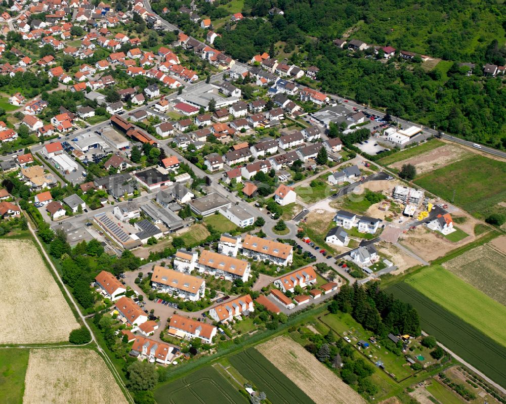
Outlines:
[[161, 292], [170, 293], [174, 297], [184, 300], [200, 300], [205, 292], [205, 281], [202, 278], [159, 265], [155, 265], [153, 268], [151, 284]]

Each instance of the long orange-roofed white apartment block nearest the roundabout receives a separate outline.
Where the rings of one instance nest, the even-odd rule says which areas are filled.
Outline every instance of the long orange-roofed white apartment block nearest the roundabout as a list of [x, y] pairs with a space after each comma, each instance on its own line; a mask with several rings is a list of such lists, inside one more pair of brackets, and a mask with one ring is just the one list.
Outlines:
[[259, 261], [267, 260], [281, 266], [287, 266], [293, 260], [293, 247], [291, 245], [249, 234], [244, 237], [242, 253]]

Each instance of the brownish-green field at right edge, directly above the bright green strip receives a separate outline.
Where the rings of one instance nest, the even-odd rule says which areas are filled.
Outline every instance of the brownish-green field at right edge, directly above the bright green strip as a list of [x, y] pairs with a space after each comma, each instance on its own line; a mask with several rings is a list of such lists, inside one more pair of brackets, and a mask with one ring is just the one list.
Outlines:
[[492, 248], [490, 243], [466, 251], [443, 266], [506, 306], [506, 254]]

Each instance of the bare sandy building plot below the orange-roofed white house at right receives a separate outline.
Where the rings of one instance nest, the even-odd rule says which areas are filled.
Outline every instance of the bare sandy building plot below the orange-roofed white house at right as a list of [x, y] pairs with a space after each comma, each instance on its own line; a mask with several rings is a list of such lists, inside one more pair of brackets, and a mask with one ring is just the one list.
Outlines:
[[432, 261], [463, 244], [470, 243], [475, 238], [471, 233], [469, 237], [454, 243], [446, 239], [442, 234], [431, 232], [424, 226], [418, 226], [414, 230], [402, 233], [399, 241], [416, 255], [424, 258], [426, 261]]

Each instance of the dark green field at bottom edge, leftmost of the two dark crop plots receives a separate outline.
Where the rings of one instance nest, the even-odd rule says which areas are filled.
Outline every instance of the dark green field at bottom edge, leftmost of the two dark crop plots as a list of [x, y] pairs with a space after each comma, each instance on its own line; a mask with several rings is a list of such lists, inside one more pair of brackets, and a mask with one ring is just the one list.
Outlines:
[[206, 366], [155, 390], [158, 404], [240, 404], [239, 391], [215, 368]]

